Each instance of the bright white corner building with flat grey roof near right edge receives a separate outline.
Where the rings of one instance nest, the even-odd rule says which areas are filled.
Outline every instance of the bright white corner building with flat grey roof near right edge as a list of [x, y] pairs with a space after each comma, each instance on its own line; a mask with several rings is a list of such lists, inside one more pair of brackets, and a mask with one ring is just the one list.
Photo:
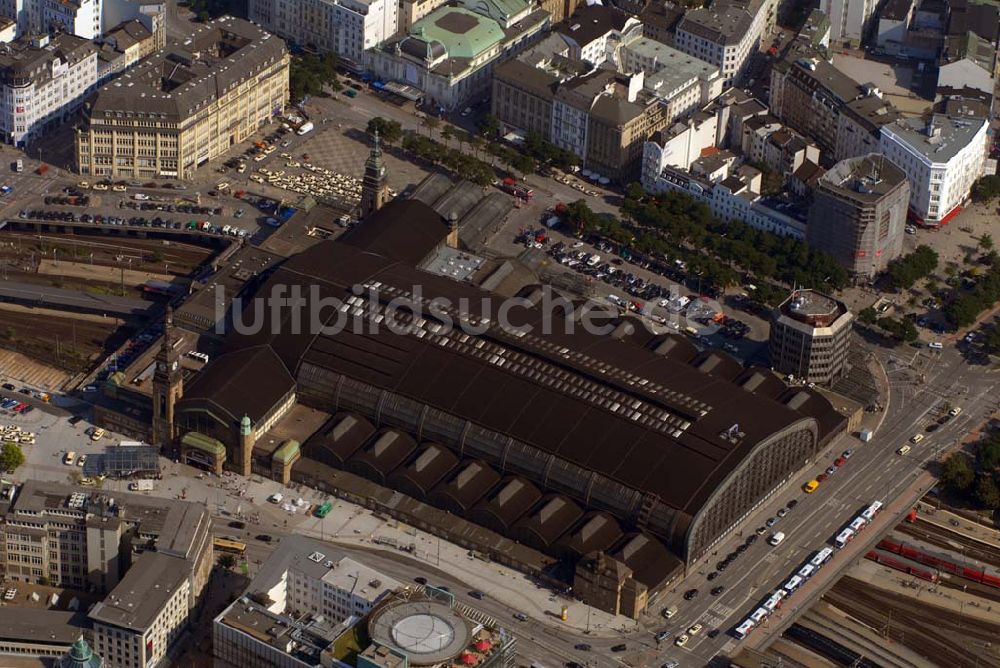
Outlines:
[[910, 181], [910, 216], [919, 224], [943, 225], [969, 197], [986, 162], [984, 119], [907, 118], [882, 128], [879, 153]]

